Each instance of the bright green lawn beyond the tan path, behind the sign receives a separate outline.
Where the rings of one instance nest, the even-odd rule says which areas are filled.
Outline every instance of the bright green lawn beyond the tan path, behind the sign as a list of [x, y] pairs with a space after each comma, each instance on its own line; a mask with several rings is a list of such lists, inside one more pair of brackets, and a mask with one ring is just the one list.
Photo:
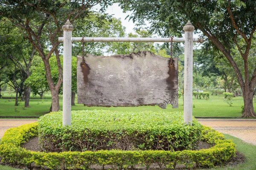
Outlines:
[[[13, 95], [14, 96], [14, 95]], [[0, 116], [42, 116], [49, 111], [51, 106], [51, 96], [46, 94], [44, 99], [39, 99], [39, 96], [32, 96], [29, 102], [30, 108], [24, 108], [24, 102], [19, 106], [14, 106], [15, 100], [10, 98], [8, 94], [3, 95], [0, 99]], [[239, 117], [241, 116], [241, 106], [243, 105], [242, 97], [234, 97], [233, 105], [230, 107], [223, 101], [223, 95], [210, 96], [210, 99], [195, 99], [193, 97], [193, 115], [200, 117]], [[256, 111], [256, 103], [254, 102], [254, 110]], [[62, 98], [60, 97], [60, 107], [62, 109]], [[91, 110], [91, 109], [105, 109], [111, 111], [183, 111], [182, 97], [179, 99], [179, 108], [173, 109], [172, 105], [168, 105], [166, 109], [161, 109], [158, 106], [140, 106], [140, 107], [84, 107], [76, 104], [72, 106], [72, 110]]]

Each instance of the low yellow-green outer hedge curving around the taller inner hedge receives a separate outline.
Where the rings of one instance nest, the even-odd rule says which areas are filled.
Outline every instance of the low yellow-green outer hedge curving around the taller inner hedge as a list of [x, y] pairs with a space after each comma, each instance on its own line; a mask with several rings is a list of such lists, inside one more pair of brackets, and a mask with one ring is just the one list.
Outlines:
[[29, 168], [32, 165], [52, 170], [87, 170], [91, 165], [112, 165], [118, 169], [135, 167], [136, 165], [149, 168], [152, 163], [159, 167], [175, 169], [176, 164], [183, 164], [187, 168], [194, 165], [198, 167], [215, 167], [222, 165], [233, 156], [236, 156], [235, 144], [225, 140], [224, 136], [204, 127], [202, 139], [214, 146], [209, 149], [163, 151], [163, 150], [99, 150], [85, 152], [44, 153], [26, 150], [20, 147], [29, 138], [37, 136], [38, 123], [13, 127], [6, 131], [0, 141], [0, 157], [2, 162], [23, 164]]

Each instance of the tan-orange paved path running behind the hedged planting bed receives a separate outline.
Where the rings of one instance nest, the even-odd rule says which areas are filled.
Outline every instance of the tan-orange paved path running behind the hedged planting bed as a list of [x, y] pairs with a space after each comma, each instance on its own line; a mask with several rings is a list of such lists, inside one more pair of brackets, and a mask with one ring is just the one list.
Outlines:
[[[0, 138], [11, 128], [38, 121], [37, 119], [0, 119]], [[256, 145], [256, 119], [198, 119], [205, 126], [227, 133]]]

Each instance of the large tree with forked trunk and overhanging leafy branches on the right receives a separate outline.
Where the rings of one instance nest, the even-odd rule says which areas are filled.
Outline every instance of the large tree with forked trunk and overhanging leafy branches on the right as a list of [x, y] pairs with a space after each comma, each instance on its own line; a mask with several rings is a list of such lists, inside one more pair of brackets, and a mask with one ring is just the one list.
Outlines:
[[[255, 117], [253, 91], [256, 84], [256, 66], [250, 68], [255, 57], [252, 41], [256, 31], [255, 0], [118, 0], [124, 11], [133, 11], [131, 19], [143, 25], [151, 23], [150, 31], [170, 37], [181, 35], [188, 20], [195, 31], [207, 37], [205, 46], [220, 51], [236, 73], [244, 97], [242, 117]], [[177, 35], [176, 34], [176, 35]], [[239, 51], [238, 65], [234, 52]], [[244, 68], [244, 70], [242, 68]]]

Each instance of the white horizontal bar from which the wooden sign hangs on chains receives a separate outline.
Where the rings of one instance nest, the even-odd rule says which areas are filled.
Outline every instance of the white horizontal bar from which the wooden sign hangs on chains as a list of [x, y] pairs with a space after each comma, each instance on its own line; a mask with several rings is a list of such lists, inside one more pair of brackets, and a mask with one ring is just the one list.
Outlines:
[[[63, 37], [58, 37], [63, 42]], [[81, 42], [82, 37], [72, 37], [73, 42]], [[84, 42], [171, 42], [171, 38], [131, 38], [131, 37], [84, 37]], [[185, 38], [173, 38], [172, 42], [185, 42]], [[203, 43], [204, 39], [194, 38], [193, 42]]]

